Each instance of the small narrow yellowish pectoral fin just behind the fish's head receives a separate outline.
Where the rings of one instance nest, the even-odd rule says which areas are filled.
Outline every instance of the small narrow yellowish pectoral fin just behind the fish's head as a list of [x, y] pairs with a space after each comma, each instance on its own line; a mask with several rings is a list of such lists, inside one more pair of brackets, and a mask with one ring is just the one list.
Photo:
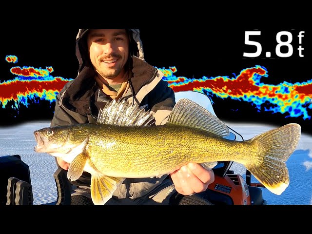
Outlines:
[[68, 168], [67, 178], [71, 181], [77, 180], [82, 175], [88, 158], [89, 156], [85, 151], [76, 156]]

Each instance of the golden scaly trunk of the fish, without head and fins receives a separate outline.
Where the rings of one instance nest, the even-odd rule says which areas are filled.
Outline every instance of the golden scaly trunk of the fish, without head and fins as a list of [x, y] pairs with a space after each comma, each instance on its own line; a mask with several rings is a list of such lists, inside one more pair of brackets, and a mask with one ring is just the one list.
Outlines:
[[[98, 171], [115, 177], [143, 178], [169, 174], [188, 162], [246, 161], [249, 142], [227, 140], [185, 126], [100, 126], [89, 134], [86, 152]], [[100, 142], [100, 143], [99, 143]], [[253, 149], [251, 149], [253, 148]]]

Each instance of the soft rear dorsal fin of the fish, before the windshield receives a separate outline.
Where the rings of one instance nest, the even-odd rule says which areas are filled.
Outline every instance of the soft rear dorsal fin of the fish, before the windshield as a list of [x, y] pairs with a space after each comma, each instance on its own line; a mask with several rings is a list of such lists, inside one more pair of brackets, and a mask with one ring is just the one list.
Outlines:
[[196, 102], [181, 98], [176, 102], [167, 123], [197, 128], [221, 137], [230, 134], [225, 123]]

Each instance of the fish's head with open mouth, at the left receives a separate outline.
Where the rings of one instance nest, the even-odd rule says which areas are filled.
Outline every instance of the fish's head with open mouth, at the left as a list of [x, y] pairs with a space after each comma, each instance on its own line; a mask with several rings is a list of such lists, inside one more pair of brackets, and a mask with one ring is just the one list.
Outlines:
[[53, 156], [70, 154], [85, 140], [84, 134], [79, 134], [70, 126], [47, 127], [34, 131], [37, 145], [35, 152], [48, 153]]

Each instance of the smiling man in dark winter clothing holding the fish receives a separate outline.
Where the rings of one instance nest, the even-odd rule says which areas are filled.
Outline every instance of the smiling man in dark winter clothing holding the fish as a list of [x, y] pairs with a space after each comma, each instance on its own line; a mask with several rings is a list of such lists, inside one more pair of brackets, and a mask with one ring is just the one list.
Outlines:
[[[112, 99], [137, 102], [151, 111], [156, 125], [166, 123], [175, 95], [162, 80], [162, 72], [144, 60], [139, 30], [80, 29], [76, 44], [78, 76], [59, 92], [51, 127], [96, 122], [98, 110]], [[60, 158], [57, 163], [68, 170], [69, 163]], [[71, 181], [72, 204], [93, 204], [90, 178], [84, 172]], [[168, 204], [175, 190], [193, 195], [205, 191], [213, 181], [213, 171], [189, 163], [170, 176], [127, 178], [106, 204]]]

